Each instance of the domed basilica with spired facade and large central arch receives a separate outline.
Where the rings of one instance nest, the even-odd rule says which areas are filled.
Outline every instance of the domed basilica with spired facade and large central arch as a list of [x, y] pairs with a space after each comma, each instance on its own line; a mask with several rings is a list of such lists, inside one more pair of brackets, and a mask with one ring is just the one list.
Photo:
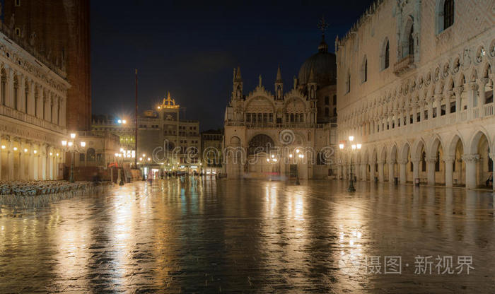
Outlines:
[[284, 92], [281, 69], [274, 92], [262, 84], [245, 95], [240, 68], [233, 72], [224, 121], [223, 162], [228, 178], [332, 175], [336, 121], [335, 55], [323, 37]]

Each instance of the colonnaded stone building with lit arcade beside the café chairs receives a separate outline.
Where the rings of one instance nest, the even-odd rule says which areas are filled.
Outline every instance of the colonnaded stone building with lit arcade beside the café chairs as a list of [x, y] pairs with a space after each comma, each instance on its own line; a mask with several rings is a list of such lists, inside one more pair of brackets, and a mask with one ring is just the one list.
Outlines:
[[69, 83], [60, 72], [0, 33], [1, 180], [63, 177]]

